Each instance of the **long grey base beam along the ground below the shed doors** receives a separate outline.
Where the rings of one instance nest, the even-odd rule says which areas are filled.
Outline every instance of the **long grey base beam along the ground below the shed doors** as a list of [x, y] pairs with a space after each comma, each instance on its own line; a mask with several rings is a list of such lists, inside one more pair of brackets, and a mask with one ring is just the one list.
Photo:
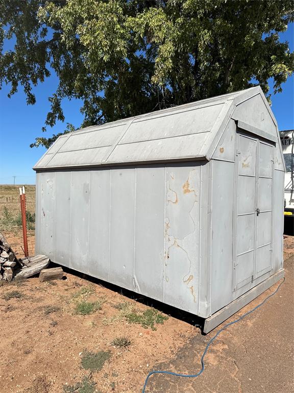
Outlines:
[[237, 311], [245, 307], [257, 296], [261, 295], [268, 288], [272, 287], [280, 279], [284, 278], [284, 270], [279, 270], [277, 273], [268, 277], [266, 280], [260, 282], [256, 287], [252, 288], [250, 291], [244, 293], [242, 296], [233, 300], [230, 304], [226, 305], [223, 309], [220, 309], [211, 317], [205, 319], [203, 333], [207, 334], [212, 331], [220, 323], [224, 322], [230, 316], [235, 314]]

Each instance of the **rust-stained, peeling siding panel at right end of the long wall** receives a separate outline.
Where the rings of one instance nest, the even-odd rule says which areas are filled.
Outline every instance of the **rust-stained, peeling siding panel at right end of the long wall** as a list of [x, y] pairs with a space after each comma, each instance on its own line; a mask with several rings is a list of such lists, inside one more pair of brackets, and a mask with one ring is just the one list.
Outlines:
[[201, 165], [166, 168], [163, 300], [194, 313], [199, 304], [200, 177]]

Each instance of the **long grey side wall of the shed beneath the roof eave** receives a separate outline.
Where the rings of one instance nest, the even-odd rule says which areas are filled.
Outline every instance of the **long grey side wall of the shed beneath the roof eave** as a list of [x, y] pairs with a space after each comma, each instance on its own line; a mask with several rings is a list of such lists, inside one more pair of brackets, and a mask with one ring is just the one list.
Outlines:
[[204, 162], [39, 172], [36, 251], [206, 316], [207, 175]]

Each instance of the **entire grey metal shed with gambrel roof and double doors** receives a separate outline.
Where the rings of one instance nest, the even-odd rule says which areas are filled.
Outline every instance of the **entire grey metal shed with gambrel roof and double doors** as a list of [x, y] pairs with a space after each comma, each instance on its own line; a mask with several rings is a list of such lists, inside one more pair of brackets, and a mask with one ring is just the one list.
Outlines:
[[63, 135], [34, 169], [38, 254], [205, 333], [283, 277], [285, 167], [259, 87]]

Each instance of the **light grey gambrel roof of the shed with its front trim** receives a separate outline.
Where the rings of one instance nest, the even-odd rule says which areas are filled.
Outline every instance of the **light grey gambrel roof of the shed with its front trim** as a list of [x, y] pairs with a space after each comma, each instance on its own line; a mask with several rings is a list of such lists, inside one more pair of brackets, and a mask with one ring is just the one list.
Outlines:
[[210, 160], [235, 107], [259, 94], [275, 122], [257, 86], [62, 135], [34, 169]]

